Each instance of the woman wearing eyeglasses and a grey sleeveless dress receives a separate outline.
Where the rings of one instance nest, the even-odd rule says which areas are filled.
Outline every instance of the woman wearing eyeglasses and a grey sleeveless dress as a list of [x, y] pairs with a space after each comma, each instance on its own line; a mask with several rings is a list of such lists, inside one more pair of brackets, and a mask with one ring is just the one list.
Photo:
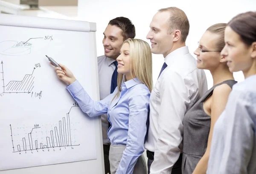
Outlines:
[[224, 48], [226, 23], [210, 26], [194, 51], [197, 67], [211, 72], [213, 86], [186, 112], [183, 119], [183, 174], [206, 174], [213, 126], [224, 110], [232, 86], [236, 83], [229, 71]]

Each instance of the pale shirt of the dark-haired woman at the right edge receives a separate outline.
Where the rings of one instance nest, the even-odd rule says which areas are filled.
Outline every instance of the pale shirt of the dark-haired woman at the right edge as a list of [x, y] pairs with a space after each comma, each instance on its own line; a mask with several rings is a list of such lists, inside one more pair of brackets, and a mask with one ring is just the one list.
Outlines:
[[256, 174], [256, 75], [235, 84], [215, 123], [207, 174]]

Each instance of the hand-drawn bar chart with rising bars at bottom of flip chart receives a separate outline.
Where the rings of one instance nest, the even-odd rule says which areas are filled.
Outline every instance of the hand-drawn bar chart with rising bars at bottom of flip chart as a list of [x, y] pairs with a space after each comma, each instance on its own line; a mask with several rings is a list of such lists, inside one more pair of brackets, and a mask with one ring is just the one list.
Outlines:
[[[75, 104], [73, 104], [75, 105]], [[11, 129], [11, 137], [12, 137], [12, 149], [13, 152], [21, 152], [21, 151], [33, 151], [38, 149], [44, 149], [44, 148], [55, 148], [55, 147], [67, 147], [67, 146], [78, 146], [80, 144], [74, 144], [72, 143], [71, 138], [71, 128], [70, 128], [70, 111], [74, 107], [79, 107], [77, 105], [72, 106], [67, 113], [67, 117], [62, 117], [62, 120], [59, 120], [58, 127], [54, 127], [54, 133], [53, 130], [50, 131], [51, 136], [45, 137], [45, 142], [40, 143], [40, 146], [38, 146], [38, 140], [33, 140], [32, 132], [34, 129], [38, 129], [41, 127], [38, 127], [39, 125], [35, 125], [35, 128], [32, 128], [32, 130], [28, 133], [28, 140], [26, 137], [22, 138], [23, 144], [18, 144], [17, 148], [15, 149], [14, 146], [14, 140], [13, 140], [13, 134], [12, 134], [12, 125], [10, 124]], [[67, 120], [66, 120], [67, 119]], [[62, 121], [62, 123], [61, 123]]]

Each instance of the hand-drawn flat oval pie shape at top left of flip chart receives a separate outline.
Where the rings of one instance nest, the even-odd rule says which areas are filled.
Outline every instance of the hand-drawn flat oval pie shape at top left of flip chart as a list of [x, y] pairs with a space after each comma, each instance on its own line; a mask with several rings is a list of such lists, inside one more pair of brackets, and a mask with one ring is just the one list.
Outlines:
[[22, 56], [30, 54], [31, 43], [23, 41], [6, 40], [0, 42], [0, 54], [7, 56]]

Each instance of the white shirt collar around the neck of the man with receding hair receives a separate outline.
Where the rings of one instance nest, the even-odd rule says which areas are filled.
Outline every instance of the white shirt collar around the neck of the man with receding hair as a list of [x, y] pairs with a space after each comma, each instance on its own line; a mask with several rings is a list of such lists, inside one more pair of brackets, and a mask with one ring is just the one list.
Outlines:
[[175, 49], [174, 51], [172, 51], [171, 53], [169, 53], [164, 61], [167, 65], [171, 65], [172, 62], [174, 62], [175, 60], [178, 60], [180, 58], [180, 55], [185, 55], [189, 53], [189, 48], [188, 46], [183, 46], [180, 48]]

